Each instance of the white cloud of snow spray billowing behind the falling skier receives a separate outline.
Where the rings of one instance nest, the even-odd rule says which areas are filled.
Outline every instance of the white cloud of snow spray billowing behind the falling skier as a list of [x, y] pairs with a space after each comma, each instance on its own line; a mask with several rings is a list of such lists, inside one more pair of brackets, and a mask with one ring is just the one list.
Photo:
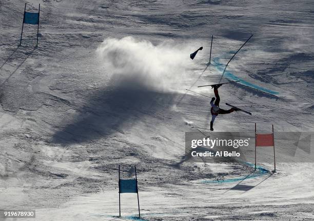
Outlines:
[[189, 55], [194, 48], [181, 44], [153, 45], [130, 36], [107, 38], [96, 53], [120, 84], [163, 92], [178, 89], [193, 67]]

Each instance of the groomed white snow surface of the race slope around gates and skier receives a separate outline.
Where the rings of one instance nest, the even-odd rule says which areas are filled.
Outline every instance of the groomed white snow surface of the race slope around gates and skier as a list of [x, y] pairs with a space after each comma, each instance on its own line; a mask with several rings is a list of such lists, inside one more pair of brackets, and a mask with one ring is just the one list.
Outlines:
[[[314, 163], [245, 178], [249, 165], [184, 157], [185, 132], [208, 132], [211, 119], [210, 98], [185, 89], [212, 97], [197, 86], [222, 74], [208, 65], [212, 34], [222, 64], [254, 34], [227, 68], [253, 86], [220, 88], [223, 108], [252, 116], [219, 115], [215, 131], [313, 131], [313, 1], [28, 3], [41, 4], [38, 47], [27, 24], [18, 46], [25, 2], [0, 2], [0, 210], [36, 210], [27, 220], [314, 220]], [[124, 178], [136, 165], [142, 219], [130, 193], [116, 217], [119, 165]]]

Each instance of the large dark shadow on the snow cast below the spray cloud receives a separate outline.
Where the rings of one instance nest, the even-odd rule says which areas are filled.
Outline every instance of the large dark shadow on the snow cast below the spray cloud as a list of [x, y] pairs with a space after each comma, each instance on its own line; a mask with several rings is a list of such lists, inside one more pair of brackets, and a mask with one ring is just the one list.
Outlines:
[[81, 108], [72, 123], [57, 131], [52, 138], [54, 143], [81, 143], [109, 136], [112, 133], [127, 133], [136, 122], [148, 127], [145, 116], [162, 118], [159, 112], [168, 109], [174, 94], [157, 92], [134, 82], [124, 81], [112, 88], [99, 90]]

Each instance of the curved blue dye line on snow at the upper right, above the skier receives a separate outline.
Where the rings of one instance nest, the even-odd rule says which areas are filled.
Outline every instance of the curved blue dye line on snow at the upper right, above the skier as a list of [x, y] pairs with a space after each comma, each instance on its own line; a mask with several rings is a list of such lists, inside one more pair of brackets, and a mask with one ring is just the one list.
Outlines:
[[[232, 53], [232, 51], [230, 51], [229, 53]], [[233, 53], [234, 54], [234, 53]], [[212, 65], [219, 71], [223, 72], [224, 69], [225, 69], [225, 64], [222, 64], [220, 63], [220, 58], [221, 57], [214, 57], [212, 58]], [[272, 90], [269, 90], [269, 89], [266, 89], [266, 88], [263, 88], [261, 86], [258, 86], [258, 85], [255, 85], [255, 84], [252, 84], [252, 83], [249, 83], [247, 81], [244, 81], [243, 79], [241, 79], [240, 77], [238, 76], [235, 76], [234, 74], [232, 74], [230, 71], [225, 71], [225, 77], [227, 79], [230, 79], [231, 81], [239, 81], [238, 83], [240, 84], [243, 84], [245, 86], [248, 86], [248, 87], [251, 87], [251, 88], [254, 88], [254, 89], [258, 89], [260, 91], [263, 91], [263, 92], [266, 92], [266, 93], [269, 93], [269, 94], [273, 94], [273, 95], [277, 95], [279, 94], [278, 91], [272, 91]]]

